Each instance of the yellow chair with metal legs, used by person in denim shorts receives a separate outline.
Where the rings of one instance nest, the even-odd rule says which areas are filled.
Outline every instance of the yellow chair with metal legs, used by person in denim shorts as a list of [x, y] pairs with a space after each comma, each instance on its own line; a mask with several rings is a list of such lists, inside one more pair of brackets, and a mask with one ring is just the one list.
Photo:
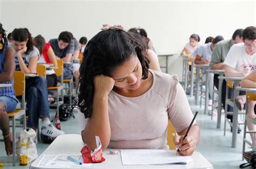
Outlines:
[[23, 117], [23, 129], [26, 129], [26, 111], [25, 111], [25, 73], [21, 71], [14, 72], [14, 90], [16, 96], [22, 96], [21, 109], [16, 109], [8, 114], [12, 123], [12, 165], [16, 165], [16, 119]]

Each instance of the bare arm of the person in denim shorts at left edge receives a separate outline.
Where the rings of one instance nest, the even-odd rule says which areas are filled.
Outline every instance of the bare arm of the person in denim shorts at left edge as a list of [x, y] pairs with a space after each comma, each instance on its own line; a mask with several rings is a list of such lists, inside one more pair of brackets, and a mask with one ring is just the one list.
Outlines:
[[12, 47], [6, 48], [4, 60], [4, 72], [0, 73], [0, 82], [11, 81], [15, 71], [15, 50]]

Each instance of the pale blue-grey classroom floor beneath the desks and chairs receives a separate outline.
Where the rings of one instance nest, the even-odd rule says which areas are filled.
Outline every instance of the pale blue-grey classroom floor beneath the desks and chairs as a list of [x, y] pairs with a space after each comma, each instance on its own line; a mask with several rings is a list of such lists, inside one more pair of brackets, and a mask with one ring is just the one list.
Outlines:
[[[245, 163], [242, 161], [242, 136], [243, 132], [238, 134], [237, 138], [237, 147], [231, 147], [232, 133], [230, 132], [230, 126], [227, 126], [226, 136], [223, 136], [224, 128], [224, 115], [221, 116], [221, 129], [216, 128], [217, 116], [213, 117], [204, 115], [204, 108], [200, 109], [199, 105], [194, 104], [194, 97], [187, 96], [188, 101], [190, 102], [191, 109], [194, 112], [199, 111], [197, 116], [197, 122], [201, 129], [201, 138], [200, 143], [197, 147], [203, 156], [210, 161], [214, 168], [239, 168], [239, 165]], [[210, 107], [209, 107], [210, 109]], [[51, 115], [54, 116], [55, 112], [51, 112]], [[75, 116], [77, 113], [75, 112]], [[78, 118], [70, 118], [66, 122], [61, 123], [62, 130], [65, 133], [79, 133]], [[243, 127], [243, 126], [242, 126]], [[0, 136], [2, 133], [0, 131]], [[37, 144], [38, 155], [41, 154], [48, 144], [43, 144], [39, 142]], [[246, 149], [248, 149], [246, 145]], [[0, 163], [4, 163], [4, 168], [29, 168], [28, 166], [19, 166], [17, 160], [17, 166], [12, 166], [12, 158], [7, 157], [4, 149], [4, 143], [0, 142]], [[250, 168], [250, 167], [248, 167]]]

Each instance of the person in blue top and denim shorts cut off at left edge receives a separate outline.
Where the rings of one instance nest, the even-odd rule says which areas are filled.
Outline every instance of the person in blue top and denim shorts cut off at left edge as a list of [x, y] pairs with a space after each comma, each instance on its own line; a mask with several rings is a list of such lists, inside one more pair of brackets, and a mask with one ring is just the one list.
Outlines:
[[11, 84], [10, 87], [0, 88], [0, 129], [2, 130], [6, 154], [12, 154], [12, 134], [9, 130], [8, 112], [15, 110], [18, 103], [14, 91], [15, 51], [8, 46], [5, 30], [0, 23], [0, 84]]

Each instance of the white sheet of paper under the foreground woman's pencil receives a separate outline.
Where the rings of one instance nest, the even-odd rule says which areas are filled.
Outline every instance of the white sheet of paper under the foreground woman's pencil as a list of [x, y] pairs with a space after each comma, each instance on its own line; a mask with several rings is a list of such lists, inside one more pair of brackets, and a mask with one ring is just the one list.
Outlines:
[[123, 165], [187, 164], [190, 156], [177, 156], [175, 150], [120, 150]]

